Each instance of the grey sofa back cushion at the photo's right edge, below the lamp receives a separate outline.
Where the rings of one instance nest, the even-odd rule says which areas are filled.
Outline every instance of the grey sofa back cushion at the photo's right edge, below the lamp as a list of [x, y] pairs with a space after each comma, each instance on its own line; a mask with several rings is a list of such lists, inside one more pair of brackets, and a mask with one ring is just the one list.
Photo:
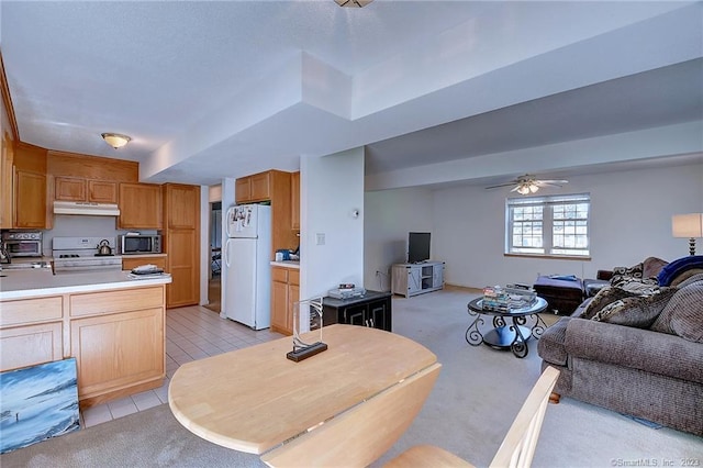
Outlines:
[[679, 288], [651, 330], [703, 343], [703, 281]]

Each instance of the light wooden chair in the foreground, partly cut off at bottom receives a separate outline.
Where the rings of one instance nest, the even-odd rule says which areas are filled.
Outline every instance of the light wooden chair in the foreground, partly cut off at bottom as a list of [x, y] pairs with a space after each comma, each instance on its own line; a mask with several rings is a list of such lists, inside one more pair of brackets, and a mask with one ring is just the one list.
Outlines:
[[[557, 383], [559, 371], [547, 367], [529, 395], [523, 403], [513, 425], [507, 431], [490, 467], [529, 467], [535, 455], [539, 430], [544, 421], [551, 389]], [[386, 468], [415, 467], [472, 467], [449, 452], [432, 445], [409, 448], [384, 465]]]

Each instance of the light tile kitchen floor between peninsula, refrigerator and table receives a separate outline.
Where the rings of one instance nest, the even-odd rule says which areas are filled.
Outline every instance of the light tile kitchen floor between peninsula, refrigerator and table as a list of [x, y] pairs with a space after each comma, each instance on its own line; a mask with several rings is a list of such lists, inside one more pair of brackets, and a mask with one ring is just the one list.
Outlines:
[[168, 383], [183, 363], [245, 348], [283, 335], [267, 330], [254, 331], [223, 320], [217, 312], [201, 307], [166, 311], [166, 379], [155, 390], [98, 404], [81, 411], [81, 427], [112, 421], [168, 402]]

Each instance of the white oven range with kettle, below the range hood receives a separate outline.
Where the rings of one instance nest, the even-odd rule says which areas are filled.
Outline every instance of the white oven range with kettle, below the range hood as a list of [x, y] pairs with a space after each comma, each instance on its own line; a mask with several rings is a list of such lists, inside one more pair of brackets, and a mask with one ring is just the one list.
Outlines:
[[54, 272], [122, 270], [121, 256], [99, 254], [103, 241], [115, 252], [115, 237], [54, 237]]

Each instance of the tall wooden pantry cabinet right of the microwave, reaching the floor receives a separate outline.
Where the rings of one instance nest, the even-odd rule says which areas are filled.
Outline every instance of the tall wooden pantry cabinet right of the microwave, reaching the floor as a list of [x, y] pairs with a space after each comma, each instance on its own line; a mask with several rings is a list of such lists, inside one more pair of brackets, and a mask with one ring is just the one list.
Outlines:
[[200, 187], [164, 185], [164, 252], [166, 271], [172, 282], [166, 287], [166, 307], [200, 302]]

